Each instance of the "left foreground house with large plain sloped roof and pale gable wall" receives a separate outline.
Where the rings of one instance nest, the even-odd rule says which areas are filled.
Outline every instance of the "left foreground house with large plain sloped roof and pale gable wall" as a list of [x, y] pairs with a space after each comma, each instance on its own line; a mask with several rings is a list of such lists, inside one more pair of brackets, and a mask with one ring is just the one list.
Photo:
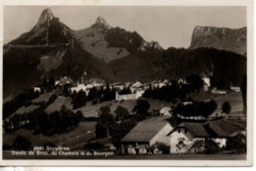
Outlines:
[[136, 154], [145, 152], [156, 142], [169, 145], [166, 135], [173, 129], [165, 120], [168, 117], [154, 117], [139, 122], [122, 140], [121, 146], [124, 153]]

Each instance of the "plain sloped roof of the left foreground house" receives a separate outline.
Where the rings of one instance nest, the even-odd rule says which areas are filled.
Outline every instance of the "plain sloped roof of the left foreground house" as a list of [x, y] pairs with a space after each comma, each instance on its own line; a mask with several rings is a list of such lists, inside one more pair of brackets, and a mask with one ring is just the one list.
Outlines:
[[165, 117], [154, 117], [139, 122], [121, 142], [150, 142], [167, 124]]

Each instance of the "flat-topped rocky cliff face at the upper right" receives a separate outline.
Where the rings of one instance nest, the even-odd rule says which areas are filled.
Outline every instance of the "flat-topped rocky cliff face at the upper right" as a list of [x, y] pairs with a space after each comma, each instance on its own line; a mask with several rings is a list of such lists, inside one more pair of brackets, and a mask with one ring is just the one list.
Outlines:
[[213, 47], [246, 55], [247, 28], [194, 28], [190, 49]]

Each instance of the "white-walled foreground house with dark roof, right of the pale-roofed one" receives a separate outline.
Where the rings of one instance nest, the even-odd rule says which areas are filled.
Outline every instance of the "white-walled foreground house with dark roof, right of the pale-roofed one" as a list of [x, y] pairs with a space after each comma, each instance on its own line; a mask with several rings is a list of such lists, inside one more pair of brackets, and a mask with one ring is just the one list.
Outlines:
[[170, 138], [170, 153], [202, 152], [205, 149], [206, 140], [212, 140], [219, 147], [224, 147], [229, 133], [226, 133], [219, 124], [212, 121], [207, 123], [182, 122], [167, 135]]

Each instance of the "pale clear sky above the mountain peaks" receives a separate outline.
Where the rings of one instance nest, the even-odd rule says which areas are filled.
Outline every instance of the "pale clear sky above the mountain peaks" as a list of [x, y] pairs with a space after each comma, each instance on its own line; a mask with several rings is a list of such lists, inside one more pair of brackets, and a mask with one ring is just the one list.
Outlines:
[[6, 6], [4, 42], [29, 31], [45, 8], [69, 28], [89, 28], [101, 16], [112, 28], [136, 30], [147, 41], [159, 41], [163, 48], [187, 48], [196, 26], [246, 27], [246, 7], [235, 6]]

